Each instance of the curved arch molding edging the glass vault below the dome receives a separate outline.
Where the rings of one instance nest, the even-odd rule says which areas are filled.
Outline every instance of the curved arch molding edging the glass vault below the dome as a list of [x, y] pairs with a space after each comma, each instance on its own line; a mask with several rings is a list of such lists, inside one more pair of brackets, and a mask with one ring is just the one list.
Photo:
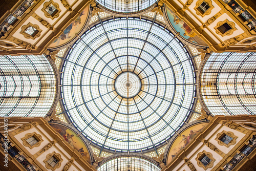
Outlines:
[[[143, 158], [147, 161], [150, 161], [151, 163], [159, 166], [159, 163], [156, 162], [153, 158], [149, 157], [149, 156], [146, 156], [146, 155], [143, 155], [143, 154], [139, 154], [139, 153], [119, 153], [119, 154], [115, 154], [115, 155], [112, 155], [112, 156], [109, 156], [109, 157], [106, 157], [105, 159], [103, 159], [101, 162], [99, 162], [98, 164], [98, 167], [100, 167], [102, 164], [112, 160], [112, 159], [116, 159], [116, 158], [119, 158], [119, 157], [137, 157], [137, 158]], [[97, 168], [98, 168], [97, 167]], [[160, 168], [160, 167], [159, 167]]]

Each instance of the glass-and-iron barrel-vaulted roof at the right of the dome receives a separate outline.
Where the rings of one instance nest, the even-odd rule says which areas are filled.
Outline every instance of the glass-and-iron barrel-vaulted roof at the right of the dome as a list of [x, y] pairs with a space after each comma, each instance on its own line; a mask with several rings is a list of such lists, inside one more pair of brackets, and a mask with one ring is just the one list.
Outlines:
[[202, 99], [214, 115], [256, 114], [256, 53], [213, 53], [201, 76]]

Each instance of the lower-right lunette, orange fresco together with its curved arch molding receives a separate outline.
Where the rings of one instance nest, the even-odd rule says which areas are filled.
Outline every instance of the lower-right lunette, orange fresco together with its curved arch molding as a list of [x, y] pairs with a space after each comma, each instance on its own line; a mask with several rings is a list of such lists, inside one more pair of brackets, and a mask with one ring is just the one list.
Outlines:
[[172, 162], [175, 157], [185, 148], [189, 142], [191, 142], [196, 135], [201, 132], [209, 122], [206, 120], [193, 121], [187, 124], [184, 130], [180, 130], [180, 136], [176, 135], [169, 141], [169, 144], [165, 149], [165, 162], [166, 165]]

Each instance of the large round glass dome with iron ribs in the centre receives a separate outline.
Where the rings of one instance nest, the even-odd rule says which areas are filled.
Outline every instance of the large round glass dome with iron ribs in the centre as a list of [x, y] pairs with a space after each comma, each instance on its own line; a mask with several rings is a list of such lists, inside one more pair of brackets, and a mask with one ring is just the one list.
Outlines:
[[101, 149], [156, 148], [192, 112], [195, 75], [182, 47], [145, 19], [116, 18], [90, 28], [64, 59], [63, 113]]

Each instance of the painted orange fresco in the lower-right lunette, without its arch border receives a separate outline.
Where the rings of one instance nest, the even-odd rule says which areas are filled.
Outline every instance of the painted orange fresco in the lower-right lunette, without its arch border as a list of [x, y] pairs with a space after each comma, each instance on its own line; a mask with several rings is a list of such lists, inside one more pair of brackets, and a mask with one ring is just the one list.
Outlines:
[[177, 156], [177, 154], [183, 148], [185, 148], [199, 132], [204, 129], [206, 125], [208, 125], [208, 123], [197, 124], [189, 127], [188, 129], [180, 133], [181, 136], [177, 137], [172, 146], [170, 147], [167, 157], [167, 164], [170, 163]]

